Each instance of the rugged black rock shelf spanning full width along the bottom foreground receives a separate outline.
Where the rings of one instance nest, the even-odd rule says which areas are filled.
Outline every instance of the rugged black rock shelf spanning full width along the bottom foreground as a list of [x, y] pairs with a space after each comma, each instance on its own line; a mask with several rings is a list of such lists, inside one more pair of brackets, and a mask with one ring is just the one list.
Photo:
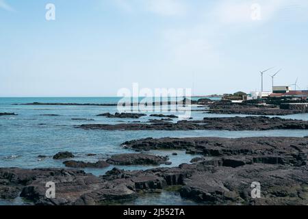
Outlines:
[[[245, 164], [233, 168], [219, 164], [198, 162], [144, 171], [114, 168], [101, 177], [80, 170], [0, 168], [4, 182], [0, 191], [11, 191], [1, 198], [15, 197], [21, 191], [21, 197], [36, 205], [99, 205], [131, 200], [138, 191], [157, 192], [178, 185], [182, 197], [209, 205], [308, 204], [307, 166]], [[55, 198], [45, 196], [47, 181], [57, 186]], [[251, 198], [254, 181], [261, 183], [261, 198]]]

